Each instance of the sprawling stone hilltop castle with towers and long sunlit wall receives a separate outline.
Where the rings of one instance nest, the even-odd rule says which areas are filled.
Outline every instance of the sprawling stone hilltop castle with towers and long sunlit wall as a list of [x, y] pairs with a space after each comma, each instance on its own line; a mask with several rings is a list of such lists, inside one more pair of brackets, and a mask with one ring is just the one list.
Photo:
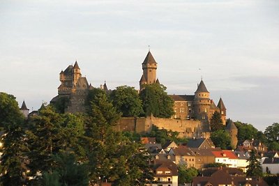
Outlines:
[[[158, 63], [149, 51], [142, 63], [142, 77], [140, 79], [140, 90], [144, 84], [160, 84], [156, 77]], [[88, 91], [93, 88], [88, 84], [86, 77], [82, 77], [80, 67], [75, 61], [75, 65], [69, 65], [66, 70], [60, 72], [61, 85], [58, 87], [58, 95], [50, 102], [55, 103], [61, 98], [68, 98], [66, 112], [84, 112], [84, 101]], [[108, 91], [107, 85], [101, 85], [100, 88]], [[197, 86], [194, 95], [169, 95], [174, 100], [174, 116], [172, 118], [122, 118], [118, 130], [128, 130], [133, 132], [149, 132], [152, 125], [167, 130], [179, 132], [179, 137], [210, 137], [209, 120], [215, 111], [221, 115], [223, 125], [226, 121], [226, 107], [220, 98], [217, 106], [211, 100], [210, 93], [207, 90], [204, 81]], [[235, 132], [236, 130], [236, 132]], [[229, 123], [227, 131], [235, 139], [237, 129], [233, 123]], [[236, 139], [237, 140], [237, 139]], [[235, 140], [234, 143], [235, 144]]]

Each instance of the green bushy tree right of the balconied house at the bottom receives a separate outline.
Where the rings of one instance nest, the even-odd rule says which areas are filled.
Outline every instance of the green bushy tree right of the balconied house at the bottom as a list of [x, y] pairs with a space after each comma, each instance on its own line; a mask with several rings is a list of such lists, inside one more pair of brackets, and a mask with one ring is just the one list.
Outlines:
[[186, 168], [185, 164], [179, 164], [179, 184], [191, 183], [193, 177], [198, 175], [197, 169], [194, 167]]

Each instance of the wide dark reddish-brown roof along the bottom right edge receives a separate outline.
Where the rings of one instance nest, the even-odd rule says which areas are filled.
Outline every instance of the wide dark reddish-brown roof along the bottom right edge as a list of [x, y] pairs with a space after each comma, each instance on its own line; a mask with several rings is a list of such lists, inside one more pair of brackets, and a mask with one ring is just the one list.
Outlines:
[[218, 171], [213, 172], [209, 176], [199, 176], [193, 178], [193, 186], [268, 186], [262, 178], [245, 177], [237, 173], [232, 175], [227, 169], [220, 167]]

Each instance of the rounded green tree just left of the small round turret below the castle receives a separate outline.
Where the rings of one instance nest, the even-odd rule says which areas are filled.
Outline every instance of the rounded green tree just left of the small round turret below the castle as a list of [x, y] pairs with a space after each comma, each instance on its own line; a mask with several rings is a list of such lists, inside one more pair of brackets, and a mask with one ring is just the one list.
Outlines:
[[232, 148], [231, 137], [229, 136], [229, 132], [225, 130], [216, 130], [215, 132], [211, 132], [210, 139], [216, 147], [220, 147], [222, 149]]

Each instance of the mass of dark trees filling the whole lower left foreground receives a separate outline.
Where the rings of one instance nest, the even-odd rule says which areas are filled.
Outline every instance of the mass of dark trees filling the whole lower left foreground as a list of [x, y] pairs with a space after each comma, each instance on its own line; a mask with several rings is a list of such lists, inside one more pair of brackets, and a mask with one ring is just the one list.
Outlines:
[[6, 173], [0, 185], [150, 183], [153, 173], [146, 151], [114, 130], [121, 113], [105, 92], [95, 88], [87, 101], [86, 114], [60, 114], [46, 106], [24, 127], [15, 98], [1, 93], [1, 113], [5, 115], [0, 124], [6, 133], [1, 167]]

